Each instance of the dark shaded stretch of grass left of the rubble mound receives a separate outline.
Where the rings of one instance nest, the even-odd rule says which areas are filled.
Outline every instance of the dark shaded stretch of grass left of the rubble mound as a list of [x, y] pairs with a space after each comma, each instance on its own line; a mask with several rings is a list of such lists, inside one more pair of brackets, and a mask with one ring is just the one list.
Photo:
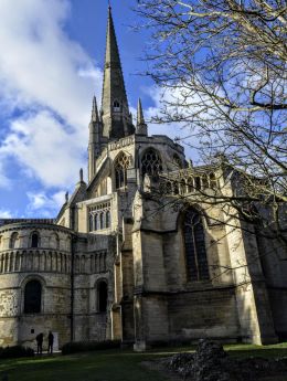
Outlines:
[[140, 364], [160, 357], [162, 353], [103, 351], [9, 360], [0, 364], [0, 380], [7, 373], [9, 381], [164, 381], [163, 375]]

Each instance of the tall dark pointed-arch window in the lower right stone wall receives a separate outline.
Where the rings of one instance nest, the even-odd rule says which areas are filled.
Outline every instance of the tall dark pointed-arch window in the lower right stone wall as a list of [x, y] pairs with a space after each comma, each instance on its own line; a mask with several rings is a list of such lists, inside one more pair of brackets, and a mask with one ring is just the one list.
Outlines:
[[202, 218], [193, 208], [189, 209], [184, 215], [183, 234], [188, 279], [209, 279], [210, 275]]

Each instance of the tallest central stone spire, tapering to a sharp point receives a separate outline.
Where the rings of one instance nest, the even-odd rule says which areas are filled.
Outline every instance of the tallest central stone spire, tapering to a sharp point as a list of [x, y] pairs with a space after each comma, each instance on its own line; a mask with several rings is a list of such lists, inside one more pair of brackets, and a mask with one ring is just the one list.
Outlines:
[[135, 127], [129, 115], [110, 6], [108, 7], [102, 117], [103, 136], [109, 140], [119, 139], [135, 133]]

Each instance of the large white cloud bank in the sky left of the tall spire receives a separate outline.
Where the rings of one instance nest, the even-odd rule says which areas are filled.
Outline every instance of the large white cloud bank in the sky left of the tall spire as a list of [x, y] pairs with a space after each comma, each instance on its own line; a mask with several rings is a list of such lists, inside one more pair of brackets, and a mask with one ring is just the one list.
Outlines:
[[[0, 103], [2, 115], [15, 107], [24, 113], [11, 120], [0, 158], [15, 157], [46, 187], [71, 187], [84, 163], [102, 71], [64, 32], [68, 1], [21, 0], [14, 7], [0, 1]], [[0, 167], [0, 187], [8, 183]]]

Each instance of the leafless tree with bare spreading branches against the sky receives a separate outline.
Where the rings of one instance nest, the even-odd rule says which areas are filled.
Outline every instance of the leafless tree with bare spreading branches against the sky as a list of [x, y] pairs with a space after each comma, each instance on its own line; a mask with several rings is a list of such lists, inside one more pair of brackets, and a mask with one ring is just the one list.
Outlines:
[[286, 244], [287, 2], [138, 0], [136, 11], [163, 94], [155, 120], [183, 124], [184, 144], [233, 181], [232, 193], [196, 191]]

